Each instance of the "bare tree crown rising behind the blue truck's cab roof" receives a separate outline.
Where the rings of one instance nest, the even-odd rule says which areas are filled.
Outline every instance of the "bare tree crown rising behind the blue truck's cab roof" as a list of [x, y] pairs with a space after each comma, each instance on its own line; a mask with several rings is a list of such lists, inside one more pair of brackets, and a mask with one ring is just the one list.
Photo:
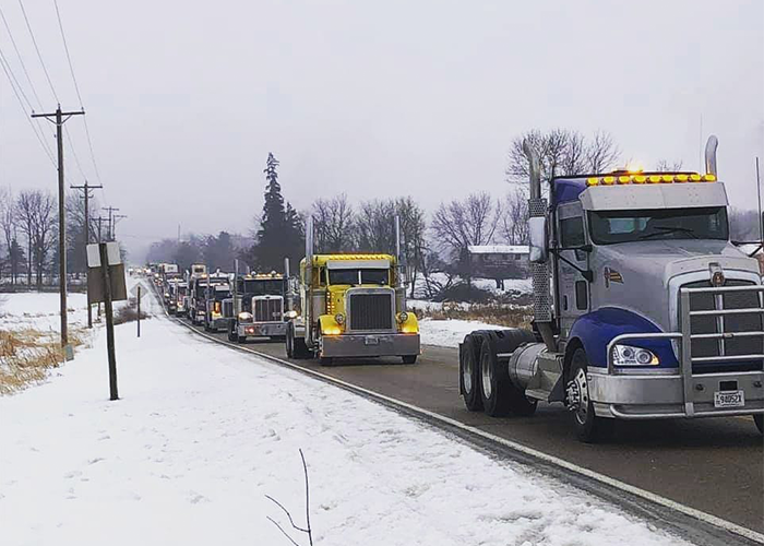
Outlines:
[[506, 166], [510, 182], [527, 183], [528, 158], [523, 151], [523, 142], [528, 141], [539, 154], [541, 180], [549, 182], [554, 176], [602, 173], [611, 169], [620, 156], [612, 136], [596, 132], [586, 138], [578, 131], [553, 129], [541, 132], [534, 129], [512, 141]]

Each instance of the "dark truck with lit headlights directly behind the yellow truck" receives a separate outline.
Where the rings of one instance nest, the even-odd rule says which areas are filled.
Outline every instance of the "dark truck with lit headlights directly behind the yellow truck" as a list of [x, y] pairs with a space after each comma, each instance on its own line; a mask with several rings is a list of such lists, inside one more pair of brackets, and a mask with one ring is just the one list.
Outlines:
[[[289, 274], [288, 266], [285, 274]], [[231, 280], [231, 297], [223, 302], [224, 316], [229, 320], [228, 340], [243, 343], [247, 337], [284, 339], [289, 313], [286, 288], [286, 276], [275, 272]]]

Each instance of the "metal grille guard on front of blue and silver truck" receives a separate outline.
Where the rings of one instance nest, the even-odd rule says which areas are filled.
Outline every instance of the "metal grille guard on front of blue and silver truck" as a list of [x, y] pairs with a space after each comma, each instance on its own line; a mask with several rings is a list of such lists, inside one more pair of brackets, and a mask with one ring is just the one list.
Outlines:
[[[736, 280], [728, 280], [725, 283], [725, 287], [745, 286], [754, 287], [755, 285], [751, 282]], [[707, 281], [685, 284], [682, 287], [691, 288], [689, 290], [689, 322], [693, 372], [761, 371], [764, 361], [762, 358], [751, 358], [750, 360], [737, 358], [764, 354], [764, 335], [755, 335], [756, 332], [764, 331], [762, 313], [725, 312], [761, 309], [761, 293], [717, 293], [713, 292], [713, 287]], [[692, 290], [692, 288], [705, 288], [705, 290]], [[723, 311], [723, 313], [717, 314], [714, 311]], [[700, 314], [693, 314], [695, 312]], [[687, 311], [680, 320], [688, 320]], [[727, 356], [736, 359], [724, 360], [719, 358]], [[695, 361], [696, 358], [702, 360]]]

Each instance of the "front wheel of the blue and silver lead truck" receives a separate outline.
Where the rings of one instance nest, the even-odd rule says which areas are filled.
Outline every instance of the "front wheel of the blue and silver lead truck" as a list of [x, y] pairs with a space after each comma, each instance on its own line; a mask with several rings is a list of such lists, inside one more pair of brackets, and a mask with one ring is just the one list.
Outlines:
[[565, 389], [568, 408], [573, 413], [573, 427], [578, 440], [595, 443], [606, 439], [612, 431], [613, 422], [594, 414], [594, 403], [589, 397], [586, 369], [588, 360], [583, 348], [573, 353], [571, 370]]

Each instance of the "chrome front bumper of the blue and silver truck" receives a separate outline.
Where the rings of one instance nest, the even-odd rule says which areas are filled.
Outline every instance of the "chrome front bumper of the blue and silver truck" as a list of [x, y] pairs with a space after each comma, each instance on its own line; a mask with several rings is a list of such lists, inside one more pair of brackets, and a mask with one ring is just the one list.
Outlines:
[[[589, 396], [594, 411], [600, 417], [620, 419], [656, 419], [677, 417], [720, 417], [764, 413], [764, 372], [705, 373], [692, 376], [692, 411], [684, 400], [684, 379], [676, 375], [623, 375], [587, 373]], [[714, 393], [723, 389], [720, 383], [736, 382], [743, 391], [742, 407], [715, 407]]]

